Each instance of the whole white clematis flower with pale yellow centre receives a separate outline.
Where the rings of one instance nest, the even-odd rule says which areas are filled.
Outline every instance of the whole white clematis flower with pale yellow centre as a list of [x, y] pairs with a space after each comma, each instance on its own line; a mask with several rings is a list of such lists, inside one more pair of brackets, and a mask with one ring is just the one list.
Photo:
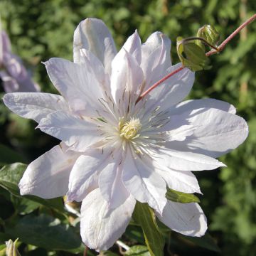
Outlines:
[[4, 103], [38, 122], [59, 146], [28, 165], [21, 194], [82, 201], [81, 236], [105, 250], [124, 233], [136, 201], [148, 203], [165, 225], [201, 236], [206, 217], [197, 203], [166, 200], [166, 186], [201, 193], [191, 171], [225, 166], [216, 160], [247, 137], [244, 119], [219, 100], [190, 100], [194, 73], [187, 68], [146, 89], [180, 66], [160, 32], [142, 44], [137, 31], [117, 53], [105, 23], [82, 21], [74, 34], [74, 62], [45, 65], [60, 95], [10, 93]]

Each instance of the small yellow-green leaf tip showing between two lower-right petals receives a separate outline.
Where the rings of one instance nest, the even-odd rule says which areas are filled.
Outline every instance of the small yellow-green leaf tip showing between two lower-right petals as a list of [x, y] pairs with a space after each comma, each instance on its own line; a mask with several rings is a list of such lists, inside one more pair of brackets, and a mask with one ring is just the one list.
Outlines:
[[199, 198], [194, 194], [175, 191], [171, 188], [167, 188], [166, 198], [177, 203], [200, 203]]

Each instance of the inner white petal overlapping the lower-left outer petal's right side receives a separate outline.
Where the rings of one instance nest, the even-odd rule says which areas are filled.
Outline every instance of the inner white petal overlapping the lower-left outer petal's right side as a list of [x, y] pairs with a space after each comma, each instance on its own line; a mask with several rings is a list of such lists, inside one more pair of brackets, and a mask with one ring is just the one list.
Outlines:
[[102, 150], [95, 149], [87, 151], [85, 154], [78, 158], [70, 173], [69, 201], [82, 201], [87, 193], [96, 188], [98, 186], [98, 174], [105, 167], [108, 153], [102, 154]]

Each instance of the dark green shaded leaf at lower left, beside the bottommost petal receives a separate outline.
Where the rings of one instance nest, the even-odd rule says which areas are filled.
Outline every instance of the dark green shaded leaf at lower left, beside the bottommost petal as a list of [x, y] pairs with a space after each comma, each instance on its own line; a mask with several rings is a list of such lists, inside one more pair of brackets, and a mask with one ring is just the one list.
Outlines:
[[69, 225], [49, 215], [26, 215], [6, 233], [22, 242], [50, 250], [70, 250], [80, 246], [80, 238]]

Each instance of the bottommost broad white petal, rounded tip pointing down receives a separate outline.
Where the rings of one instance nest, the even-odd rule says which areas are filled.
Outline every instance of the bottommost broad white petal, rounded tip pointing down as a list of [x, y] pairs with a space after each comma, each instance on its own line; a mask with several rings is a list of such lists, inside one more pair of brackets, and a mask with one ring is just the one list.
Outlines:
[[95, 250], [107, 250], [124, 233], [132, 217], [136, 201], [132, 196], [117, 208], [108, 208], [100, 193], [95, 189], [82, 201], [82, 242]]

